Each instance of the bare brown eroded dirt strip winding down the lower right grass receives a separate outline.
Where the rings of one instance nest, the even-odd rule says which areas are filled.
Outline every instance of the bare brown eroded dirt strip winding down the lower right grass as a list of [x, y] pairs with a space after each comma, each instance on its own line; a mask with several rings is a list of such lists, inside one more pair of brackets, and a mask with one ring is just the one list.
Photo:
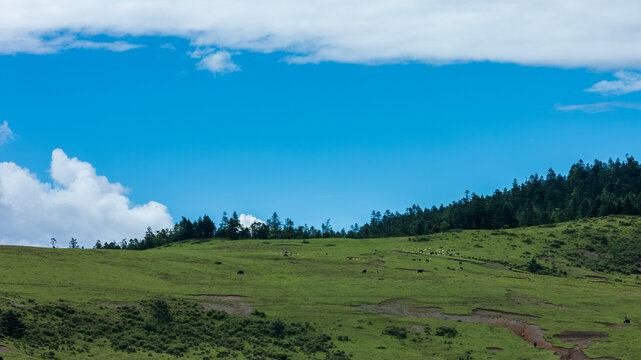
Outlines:
[[522, 320], [523, 318], [536, 318], [532, 315], [510, 313], [492, 309], [474, 309], [473, 315], [445, 314], [439, 308], [417, 307], [394, 299], [375, 305], [360, 305], [358, 307], [364, 310], [377, 312], [379, 314], [400, 317], [432, 318], [501, 326], [507, 328], [513, 334], [518, 335], [532, 345], [536, 344], [536, 346], [545, 350], [554, 351], [555, 354], [560, 356], [561, 360], [617, 360], [612, 357], [596, 359], [590, 358], [583, 352], [583, 350], [587, 349], [592, 343], [594, 343], [591, 340], [592, 338], [607, 337], [607, 333], [572, 331], [558, 334], [556, 335], [557, 338], [574, 345], [571, 349], [559, 347], [545, 339], [545, 332], [540, 326], [532, 325]]

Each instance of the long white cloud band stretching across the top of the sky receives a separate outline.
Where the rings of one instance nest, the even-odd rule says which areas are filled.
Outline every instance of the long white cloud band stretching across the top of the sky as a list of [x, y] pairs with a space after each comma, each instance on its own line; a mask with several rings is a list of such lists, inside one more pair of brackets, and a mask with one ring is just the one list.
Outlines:
[[60, 34], [176, 36], [298, 63], [641, 68], [640, 18], [629, 0], [4, 0], [0, 53], [59, 50]]

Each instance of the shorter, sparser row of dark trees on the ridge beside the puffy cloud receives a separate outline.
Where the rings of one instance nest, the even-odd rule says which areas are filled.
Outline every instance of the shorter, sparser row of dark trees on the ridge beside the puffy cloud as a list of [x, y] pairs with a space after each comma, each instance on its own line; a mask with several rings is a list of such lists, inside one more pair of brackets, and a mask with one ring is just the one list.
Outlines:
[[117, 243], [115, 241], [102, 243], [96, 242], [96, 249], [126, 249], [126, 250], [145, 250], [154, 247], [188, 240], [188, 239], [211, 239], [227, 238], [237, 239], [309, 239], [309, 238], [328, 238], [328, 237], [345, 237], [348, 234], [345, 230], [334, 231], [330, 220], [321, 224], [319, 229], [314, 226], [295, 226], [294, 221], [285, 219], [281, 222], [278, 213], [274, 212], [272, 217], [266, 222], [254, 222], [250, 226], [244, 226], [236, 212], [231, 217], [223, 213], [218, 227], [214, 221], [207, 215], [191, 221], [185, 217], [174, 224], [172, 229], [162, 229], [153, 231], [147, 228], [145, 237], [139, 239], [123, 239]]

